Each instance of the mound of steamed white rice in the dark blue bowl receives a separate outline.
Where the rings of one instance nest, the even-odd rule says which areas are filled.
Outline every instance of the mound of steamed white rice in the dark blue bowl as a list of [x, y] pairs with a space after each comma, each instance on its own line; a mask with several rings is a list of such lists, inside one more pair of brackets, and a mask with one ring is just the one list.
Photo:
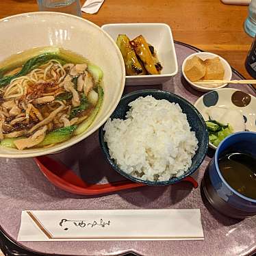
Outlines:
[[147, 96], [129, 106], [127, 119], [109, 119], [103, 128], [112, 159], [121, 170], [143, 180], [183, 175], [198, 140], [179, 104]]

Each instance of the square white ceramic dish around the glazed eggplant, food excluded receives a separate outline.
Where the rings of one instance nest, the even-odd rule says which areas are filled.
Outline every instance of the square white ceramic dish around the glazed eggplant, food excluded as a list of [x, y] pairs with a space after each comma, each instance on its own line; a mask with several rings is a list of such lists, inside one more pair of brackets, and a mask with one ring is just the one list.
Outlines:
[[170, 27], [164, 23], [124, 23], [107, 24], [102, 29], [109, 34], [114, 41], [118, 34], [126, 34], [130, 40], [137, 36], [144, 36], [147, 42], [155, 47], [157, 57], [163, 69], [160, 75], [130, 75], [126, 76], [126, 86], [140, 86], [163, 84], [178, 72], [175, 46]]

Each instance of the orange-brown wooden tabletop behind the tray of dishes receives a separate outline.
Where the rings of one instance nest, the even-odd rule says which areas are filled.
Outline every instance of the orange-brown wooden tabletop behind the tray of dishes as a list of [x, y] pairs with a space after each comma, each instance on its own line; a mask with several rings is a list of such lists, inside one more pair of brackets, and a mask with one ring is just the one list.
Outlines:
[[[83, 17], [99, 26], [107, 23], [166, 23], [175, 40], [221, 55], [244, 77], [250, 78], [244, 68], [253, 41], [243, 28], [247, 10], [247, 6], [224, 5], [220, 0], [107, 0], [99, 13], [83, 13]], [[0, 18], [36, 11], [36, 0], [0, 1]]]

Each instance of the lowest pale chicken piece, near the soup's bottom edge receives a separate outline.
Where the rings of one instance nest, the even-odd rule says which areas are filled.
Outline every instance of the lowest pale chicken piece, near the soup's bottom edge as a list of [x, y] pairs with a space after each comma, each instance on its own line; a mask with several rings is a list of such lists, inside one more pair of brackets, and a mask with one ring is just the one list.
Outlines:
[[21, 139], [21, 140], [15, 140], [14, 144], [17, 147], [17, 149], [23, 150], [31, 148], [32, 146], [36, 146], [40, 142], [44, 140], [44, 137], [46, 135], [47, 131], [47, 125], [44, 125], [42, 129], [36, 131], [32, 136], [29, 138]]

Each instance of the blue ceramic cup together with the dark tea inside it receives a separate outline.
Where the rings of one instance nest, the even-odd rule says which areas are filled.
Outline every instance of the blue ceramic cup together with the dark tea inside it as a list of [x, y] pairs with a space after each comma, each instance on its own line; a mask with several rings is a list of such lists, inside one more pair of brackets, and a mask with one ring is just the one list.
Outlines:
[[232, 218], [256, 215], [256, 133], [233, 133], [220, 143], [202, 181], [209, 203]]

